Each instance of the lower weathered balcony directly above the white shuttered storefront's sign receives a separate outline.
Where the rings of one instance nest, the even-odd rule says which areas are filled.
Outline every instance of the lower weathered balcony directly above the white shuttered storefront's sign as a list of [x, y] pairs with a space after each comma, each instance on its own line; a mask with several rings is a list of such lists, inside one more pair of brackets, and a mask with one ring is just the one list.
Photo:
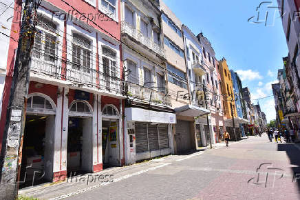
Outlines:
[[145, 88], [136, 83], [126, 83], [127, 96], [138, 99], [143, 103], [153, 103], [159, 106], [171, 106], [171, 96], [162, 90]]

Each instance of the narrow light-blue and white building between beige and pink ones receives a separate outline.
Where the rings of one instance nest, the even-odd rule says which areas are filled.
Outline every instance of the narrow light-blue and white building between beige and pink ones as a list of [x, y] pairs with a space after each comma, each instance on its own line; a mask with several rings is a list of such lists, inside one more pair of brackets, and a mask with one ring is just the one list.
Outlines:
[[[202, 56], [202, 45], [200, 41], [195, 37], [195, 34], [191, 30], [183, 25], [184, 34], [184, 46], [186, 54], [186, 69], [188, 71], [189, 79], [189, 90], [191, 97], [191, 108], [194, 111], [195, 127], [196, 127], [196, 138], [197, 147], [206, 146], [210, 143], [210, 139], [213, 140], [213, 127], [211, 126], [211, 120], [207, 114], [210, 113], [208, 102], [205, 101], [209, 95], [208, 88], [205, 85], [206, 72], [208, 68], [204, 66]], [[205, 88], [204, 88], [205, 87]], [[205, 91], [206, 90], [206, 91]], [[206, 92], [206, 94], [204, 94]]]

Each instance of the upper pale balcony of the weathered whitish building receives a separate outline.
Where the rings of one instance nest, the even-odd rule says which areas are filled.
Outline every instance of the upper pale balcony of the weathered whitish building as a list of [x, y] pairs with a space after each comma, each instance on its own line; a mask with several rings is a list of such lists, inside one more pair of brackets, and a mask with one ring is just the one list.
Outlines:
[[142, 44], [142, 46], [147, 47], [149, 50], [152, 50], [160, 57], [165, 59], [164, 48], [162, 46], [149, 39], [149, 37], [144, 36], [144, 34], [140, 32], [140, 30], [136, 30], [136, 28], [131, 26], [131, 24], [127, 23], [126, 21], [122, 21], [121, 26], [121, 33], [123, 35], [127, 34], [129, 37], [131, 37], [131, 39], [135, 41], [135, 43]]

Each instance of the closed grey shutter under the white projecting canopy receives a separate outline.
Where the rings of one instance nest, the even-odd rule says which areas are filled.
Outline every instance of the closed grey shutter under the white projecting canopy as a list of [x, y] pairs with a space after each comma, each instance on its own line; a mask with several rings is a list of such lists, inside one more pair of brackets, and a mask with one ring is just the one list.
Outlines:
[[175, 139], [178, 153], [191, 150], [191, 131], [189, 121], [177, 121]]

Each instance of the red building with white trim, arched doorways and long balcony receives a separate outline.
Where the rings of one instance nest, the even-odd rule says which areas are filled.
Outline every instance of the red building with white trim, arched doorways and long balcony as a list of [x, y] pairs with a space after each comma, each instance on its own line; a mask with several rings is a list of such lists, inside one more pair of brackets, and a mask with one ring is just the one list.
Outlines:
[[[120, 1], [65, 2], [42, 1], [38, 10], [21, 163], [26, 180], [34, 170], [45, 172], [46, 181], [57, 181], [71, 172], [125, 163]], [[17, 10], [14, 19], [20, 21]], [[83, 18], [84, 13], [94, 19]], [[12, 30], [19, 32], [19, 25]], [[11, 37], [18, 39], [14, 32]], [[8, 72], [16, 47], [10, 43]], [[3, 106], [8, 105], [12, 74], [7, 76]], [[6, 112], [1, 113], [0, 135], [4, 119]], [[34, 170], [27, 168], [31, 164]]]

